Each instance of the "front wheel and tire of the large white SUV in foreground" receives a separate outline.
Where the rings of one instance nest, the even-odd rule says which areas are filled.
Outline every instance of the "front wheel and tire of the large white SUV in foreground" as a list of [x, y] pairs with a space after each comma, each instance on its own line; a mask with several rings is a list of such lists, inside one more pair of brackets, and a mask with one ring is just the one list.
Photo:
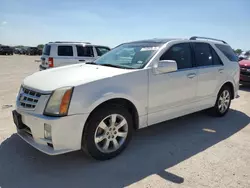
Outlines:
[[[112, 117], [116, 117], [113, 118], [115, 121], [111, 120]], [[110, 121], [116, 123], [112, 124]], [[118, 128], [123, 124], [121, 122], [125, 122], [125, 124]], [[126, 108], [113, 104], [105, 105], [94, 111], [85, 126], [82, 148], [96, 160], [108, 160], [119, 155], [127, 147], [133, 134], [131, 114]], [[122, 137], [119, 136], [120, 134]], [[98, 140], [98, 138], [102, 139]], [[114, 144], [115, 140], [117, 149]], [[108, 147], [105, 147], [106, 145]]]

